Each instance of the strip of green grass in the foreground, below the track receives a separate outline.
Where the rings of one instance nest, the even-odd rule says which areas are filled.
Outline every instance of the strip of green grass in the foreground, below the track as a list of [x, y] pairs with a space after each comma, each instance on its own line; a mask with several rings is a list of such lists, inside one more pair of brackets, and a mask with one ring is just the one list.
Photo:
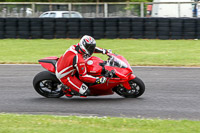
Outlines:
[[0, 114], [0, 133], [199, 133], [200, 121]]

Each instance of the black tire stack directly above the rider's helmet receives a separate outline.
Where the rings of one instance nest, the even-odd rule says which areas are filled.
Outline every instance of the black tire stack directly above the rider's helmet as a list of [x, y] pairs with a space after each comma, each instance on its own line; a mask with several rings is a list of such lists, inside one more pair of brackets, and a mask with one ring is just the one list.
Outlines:
[[82, 37], [84, 35], [89, 35], [89, 36], [93, 36], [92, 34], [92, 24], [93, 21], [91, 18], [82, 18], [80, 19], [80, 36]]

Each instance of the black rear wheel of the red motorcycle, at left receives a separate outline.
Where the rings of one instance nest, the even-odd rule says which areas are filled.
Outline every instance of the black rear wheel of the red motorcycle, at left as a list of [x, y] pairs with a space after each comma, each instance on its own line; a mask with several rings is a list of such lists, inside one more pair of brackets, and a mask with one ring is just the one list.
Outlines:
[[33, 86], [36, 92], [46, 98], [60, 98], [64, 95], [60, 81], [49, 71], [38, 73], [33, 79]]

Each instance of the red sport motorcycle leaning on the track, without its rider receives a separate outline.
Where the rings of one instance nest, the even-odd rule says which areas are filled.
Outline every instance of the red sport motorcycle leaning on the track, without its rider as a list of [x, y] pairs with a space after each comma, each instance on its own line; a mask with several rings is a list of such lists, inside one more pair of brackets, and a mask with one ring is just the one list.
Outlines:
[[[89, 96], [112, 95], [116, 92], [125, 98], [137, 98], [145, 91], [145, 85], [141, 79], [133, 74], [128, 61], [121, 55], [108, 53], [108, 60], [92, 56], [85, 60], [89, 75], [107, 78], [104, 84], [88, 84]], [[39, 63], [48, 71], [38, 73], [33, 79], [35, 90], [47, 98], [59, 98], [64, 95], [62, 88], [68, 89], [55, 75], [58, 57], [40, 59]], [[78, 77], [78, 73], [75, 75]], [[70, 90], [70, 89], [68, 89]], [[75, 96], [79, 93], [71, 92]]]

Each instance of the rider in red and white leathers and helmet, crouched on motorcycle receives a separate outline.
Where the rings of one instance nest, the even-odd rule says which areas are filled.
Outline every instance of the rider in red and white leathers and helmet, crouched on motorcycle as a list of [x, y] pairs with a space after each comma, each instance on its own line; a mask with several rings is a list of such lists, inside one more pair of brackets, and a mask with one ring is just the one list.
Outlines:
[[[87, 74], [84, 58], [95, 53], [107, 54], [111, 50], [101, 49], [96, 47], [96, 41], [93, 37], [85, 35], [80, 42], [72, 45], [58, 60], [56, 64], [57, 78], [69, 89], [63, 89], [66, 96], [72, 97], [71, 89], [80, 93], [81, 96], [90, 94], [90, 90], [86, 83], [102, 84], [106, 82], [105, 77], [94, 77]], [[75, 76], [78, 72], [79, 79]]]

